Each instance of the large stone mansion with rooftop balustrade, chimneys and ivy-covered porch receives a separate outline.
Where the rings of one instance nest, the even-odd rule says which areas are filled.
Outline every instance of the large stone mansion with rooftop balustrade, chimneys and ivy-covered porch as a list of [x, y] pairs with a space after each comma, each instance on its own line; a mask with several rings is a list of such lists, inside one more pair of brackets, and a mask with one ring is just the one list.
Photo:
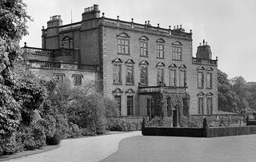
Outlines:
[[122, 116], [174, 117], [218, 111], [217, 66], [203, 41], [196, 57], [192, 31], [105, 18], [98, 5], [82, 21], [62, 25], [56, 15], [42, 28], [42, 48], [24, 46], [31, 69], [70, 86], [100, 81]]

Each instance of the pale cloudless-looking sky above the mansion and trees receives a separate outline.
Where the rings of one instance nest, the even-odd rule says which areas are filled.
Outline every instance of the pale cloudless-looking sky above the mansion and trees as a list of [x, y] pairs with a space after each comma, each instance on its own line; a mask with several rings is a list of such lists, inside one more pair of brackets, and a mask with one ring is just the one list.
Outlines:
[[193, 33], [193, 55], [205, 39], [218, 69], [230, 78], [242, 76], [256, 81], [256, 0], [24, 0], [34, 22], [28, 22], [30, 34], [22, 39], [28, 46], [41, 48], [41, 30], [50, 16], [61, 15], [63, 25], [82, 20], [84, 8], [99, 5], [106, 18], [142, 23], [162, 28], [182, 25]]

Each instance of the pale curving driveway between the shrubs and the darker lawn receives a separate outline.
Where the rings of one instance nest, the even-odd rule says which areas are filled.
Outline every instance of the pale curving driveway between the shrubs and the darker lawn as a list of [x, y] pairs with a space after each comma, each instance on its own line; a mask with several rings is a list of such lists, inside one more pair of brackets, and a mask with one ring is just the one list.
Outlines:
[[124, 132], [106, 136], [62, 140], [60, 148], [7, 161], [98, 161], [118, 151], [119, 142], [131, 136], [142, 136], [142, 132]]

